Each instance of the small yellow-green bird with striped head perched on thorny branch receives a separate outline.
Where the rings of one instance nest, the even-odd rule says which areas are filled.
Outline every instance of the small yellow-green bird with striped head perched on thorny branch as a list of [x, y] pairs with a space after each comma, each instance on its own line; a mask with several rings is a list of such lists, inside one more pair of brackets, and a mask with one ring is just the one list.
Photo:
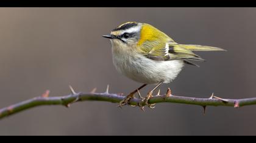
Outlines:
[[121, 24], [103, 37], [111, 41], [116, 70], [143, 84], [126, 96], [119, 103], [120, 107], [129, 104], [141, 88], [157, 84], [141, 101], [144, 104], [140, 104], [152, 107], [149, 99], [156, 88], [173, 81], [185, 64], [199, 67], [191, 61], [205, 61], [192, 51], [225, 51], [205, 45], [178, 44], [152, 25], [140, 22]]

